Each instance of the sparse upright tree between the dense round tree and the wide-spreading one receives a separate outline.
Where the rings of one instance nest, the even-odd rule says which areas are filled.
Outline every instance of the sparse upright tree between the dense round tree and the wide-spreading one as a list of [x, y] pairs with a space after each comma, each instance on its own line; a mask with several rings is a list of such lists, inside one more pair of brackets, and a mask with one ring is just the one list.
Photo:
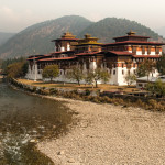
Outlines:
[[82, 70], [77, 67], [73, 67], [72, 70], [68, 72], [68, 74], [67, 74], [67, 78], [76, 80], [79, 86], [80, 86], [80, 81], [84, 79], [84, 77], [85, 76], [82, 74]]

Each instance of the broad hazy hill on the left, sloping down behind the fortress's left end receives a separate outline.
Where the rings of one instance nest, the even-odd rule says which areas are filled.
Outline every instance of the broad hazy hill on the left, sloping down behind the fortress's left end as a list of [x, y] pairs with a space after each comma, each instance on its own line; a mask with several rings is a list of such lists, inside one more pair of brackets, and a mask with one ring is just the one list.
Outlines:
[[9, 58], [29, 56], [34, 52], [36, 54], [53, 52], [54, 43], [51, 42], [52, 40], [59, 37], [66, 31], [77, 35], [91, 23], [91, 21], [77, 15], [37, 23], [18, 33], [0, 46], [0, 57]]

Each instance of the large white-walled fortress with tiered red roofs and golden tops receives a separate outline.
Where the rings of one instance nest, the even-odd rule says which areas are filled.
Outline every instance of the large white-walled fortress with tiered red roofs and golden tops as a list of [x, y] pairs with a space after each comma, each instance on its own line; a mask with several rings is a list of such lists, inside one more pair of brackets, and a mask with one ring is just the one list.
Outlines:
[[[148, 38], [135, 35], [135, 32], [131, 31], [125, 36], [114, 37], [114, 43], [101, 44], [97, 37], [89, 34], [86, 34], [85, 38], [76, 38], [67, 32], [61, 38], [52, 41], [55, 42], [55, 52], [47, 55], [32, 55], [28, 58], [26, 78], [42, 79], [43, 68], [56, 64], [59, 67], [56, 81], [69, 82], [66, 75], [72, 67], [80, 68], [84, 74], [102, 68], [111, 76], [109, 84], [127, 85], [127, 74], [135, 74], [139, 65], [146, 58], [156, 62], [162, 56], [164, 43], [150, 42]], [[157, 75], [155, 69], [152, 76]]]

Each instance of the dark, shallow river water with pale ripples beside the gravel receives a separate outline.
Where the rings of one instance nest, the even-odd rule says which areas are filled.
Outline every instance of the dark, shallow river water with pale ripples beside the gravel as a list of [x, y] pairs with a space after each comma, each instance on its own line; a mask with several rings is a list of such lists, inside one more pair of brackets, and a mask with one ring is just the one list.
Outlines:
[[52, 165], [35, 144], [66, 133], [72, 116], [63, 102], [30, 96], [0, 82], [0, 164]]

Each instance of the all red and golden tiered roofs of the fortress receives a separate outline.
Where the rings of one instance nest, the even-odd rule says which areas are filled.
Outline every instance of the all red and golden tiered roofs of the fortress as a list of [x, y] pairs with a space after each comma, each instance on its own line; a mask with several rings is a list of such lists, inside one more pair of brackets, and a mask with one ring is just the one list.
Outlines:
[[[75, 45], [77, 46], [84, 46], [84, 45], [97, 45], [97, 46], [114, 46], [114, 45], [165, 45], [164, 43], [158, 43], [158, 42], [148, 42], [150, 37], [148, 36], [139, 36], [135, 35], [135, 32], [130, 31], [128, 33], [128, 35], [125, 36], [120, 36], [120, 37], [114, 37], [116, 42], [114, 43], [108, 43], [108, 44], [101, 44], [98, 43], [98, 38], [97, 37], [91, 37], [91, 35], [86, 34], [85, 38], [82, 40], [78, 40], [76, 38], [75, 35], [73, 35], [69, 32], [64, 33], [64, 35], [62, 35], [61, 38], [54, 40], [54, 42], [63, 40], [63, 41], [78, 41], [78, 44]], [[78, 50], [78, 47], [77, 47]], [[108, 54], [111, 55], [118, 55], [118, 56], [132, 56], [132, 57], [136, 57], [136, 58], [141, 58], [141, 57], [152, 57], [152, 58], [158, 58], [161, 57], [160, 55], [135, 55], [134, 53], [130, 53], [128, 51], [109, 51], [106, 52]], [[62, 57], [59, 56], [61, 54], [67, 54], [67, 57]], [[28, 59], [29, 61], [38, 61], [38, 62], [51, 62], [51, 61], [69, 61], [69, 59], [75, 59], [78, 56], [94, 56], [94, 55], [98, 55], [98, 54], [103, 54], [103, 52], [82, 52], [82, 53], [76, 53], [76, 51], [64, 51], [64, 52], [54, 52], [47, 55], [33, 55], [30, 56]], [[54, 57], [54, 55], [56, 57]], [[58, 56], [58, 57], [57, 57]]]

